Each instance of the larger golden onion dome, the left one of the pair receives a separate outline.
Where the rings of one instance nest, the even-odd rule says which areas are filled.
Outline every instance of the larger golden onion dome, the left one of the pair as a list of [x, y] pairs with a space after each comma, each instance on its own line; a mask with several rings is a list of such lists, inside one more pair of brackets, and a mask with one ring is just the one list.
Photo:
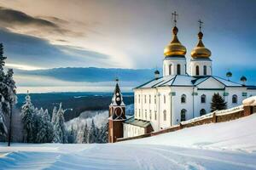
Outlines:
[[181, 44], [181, 42], [177, 39], [177, 27], [174, 26], [172, 29], [173, 39], [170, 44], [166, 46], [164, 49], [165, 56], [177, 56], [177, 55], [185, 55], [187, 53], [187, 49]]

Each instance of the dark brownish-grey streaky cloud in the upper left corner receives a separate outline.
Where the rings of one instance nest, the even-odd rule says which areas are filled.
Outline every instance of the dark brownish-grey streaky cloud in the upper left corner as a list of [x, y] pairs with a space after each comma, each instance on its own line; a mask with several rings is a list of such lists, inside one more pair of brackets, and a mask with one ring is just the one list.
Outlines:
[[[67, 20], [61, 20], [57, 17], [33, 17], [21, 11], [11, 8], [0, 7], [0, 26], [10, 31], [22, 34], [29, 34], [35, 37], [83, 36], [82, 32], [75, 32], [64, 28], [68, 24]], [[55, 39], [55, 38], [52, 38]]]

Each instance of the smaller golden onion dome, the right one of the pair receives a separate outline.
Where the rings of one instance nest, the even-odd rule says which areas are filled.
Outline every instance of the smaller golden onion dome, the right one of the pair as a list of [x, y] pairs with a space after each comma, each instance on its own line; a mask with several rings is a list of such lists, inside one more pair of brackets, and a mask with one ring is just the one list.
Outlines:
[[203, 33], [200, 31], [198, 33], [198, 39], [199, 42], [197, 43], [197, 46], [192, 50], [191, 56], [194, 59], [198, 58], [209, 58], [211, 56], [211, 51], [207, 48], [205, 48], [205, 45], [202, 42]]

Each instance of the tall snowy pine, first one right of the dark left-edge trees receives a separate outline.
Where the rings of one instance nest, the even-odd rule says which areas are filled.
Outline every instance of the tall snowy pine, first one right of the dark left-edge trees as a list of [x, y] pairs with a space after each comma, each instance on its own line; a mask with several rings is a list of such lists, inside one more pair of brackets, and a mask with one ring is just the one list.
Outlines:
[[21, 116], [23, 122], [23, 128], [25, 133], [25, 142], [32, 143], [34, 141], [34, 116], [35, 110], [34, 106], [32, 105], [31, 98], [29, 94], [26, 95], [26, 103], [21, 107]]

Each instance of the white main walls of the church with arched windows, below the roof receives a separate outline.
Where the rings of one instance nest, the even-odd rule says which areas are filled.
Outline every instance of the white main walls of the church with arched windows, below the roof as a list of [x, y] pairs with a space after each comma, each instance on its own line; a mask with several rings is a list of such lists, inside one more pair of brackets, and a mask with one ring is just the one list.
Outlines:
[[[158, 131], [179, 124], [182, 121], [182, 114], [185, 115], [183, 117], [185, 121], [209, 113], [212, 95], [216, 93], [224, 97], [227, 107], [230, 108], [241, 105], [242, 100], [248, 96], [256, 95], [256, 90], [247, 90], [247, 87], [243, 86], [227, 87], [214, 77], [208, 77], [197, 86], [136, 88], [134, 116], [135, 119], [150, 122], [154, 131]], [[236, 101], [232, 101], [234, 95]]]

